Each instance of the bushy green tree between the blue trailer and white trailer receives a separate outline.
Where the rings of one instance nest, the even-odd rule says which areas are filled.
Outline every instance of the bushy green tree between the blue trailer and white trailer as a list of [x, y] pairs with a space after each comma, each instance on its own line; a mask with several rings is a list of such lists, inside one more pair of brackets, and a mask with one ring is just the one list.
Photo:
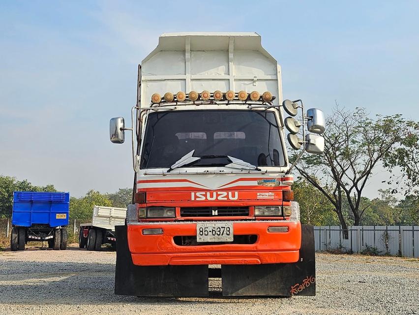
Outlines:
[[89, 221], [94, 206], [112, 207], [112, 201], [107, 194], [91, 189], [81, 198], [70, 198], [70, 220]]

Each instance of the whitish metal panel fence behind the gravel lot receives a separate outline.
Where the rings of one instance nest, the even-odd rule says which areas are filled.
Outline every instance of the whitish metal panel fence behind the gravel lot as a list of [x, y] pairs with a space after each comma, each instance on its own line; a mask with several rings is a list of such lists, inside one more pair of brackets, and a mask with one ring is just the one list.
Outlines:
[[316, 251], [376, 248], [383, 255], [419, 257], [419, 226], [349, 226], [347, 240], [340, 226], [315, 226], [314, 243]]

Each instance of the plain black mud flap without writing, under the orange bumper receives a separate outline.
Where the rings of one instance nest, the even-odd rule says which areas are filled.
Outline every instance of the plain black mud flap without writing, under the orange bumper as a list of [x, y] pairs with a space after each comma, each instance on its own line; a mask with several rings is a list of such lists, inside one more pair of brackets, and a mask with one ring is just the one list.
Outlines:
[[132, 296], [208, 296], [208, 265], [136, 266], [128, 249], [126, 225], [115, 226], [115, 294]]

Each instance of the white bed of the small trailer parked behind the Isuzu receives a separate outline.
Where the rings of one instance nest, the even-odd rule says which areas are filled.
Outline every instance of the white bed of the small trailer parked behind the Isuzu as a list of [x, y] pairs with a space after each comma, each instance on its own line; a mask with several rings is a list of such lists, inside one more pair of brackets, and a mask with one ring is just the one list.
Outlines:
[[124, 225], [125, 208], [94, 206], [92, 224], [109, 230], [115, 230], [115, 225]]

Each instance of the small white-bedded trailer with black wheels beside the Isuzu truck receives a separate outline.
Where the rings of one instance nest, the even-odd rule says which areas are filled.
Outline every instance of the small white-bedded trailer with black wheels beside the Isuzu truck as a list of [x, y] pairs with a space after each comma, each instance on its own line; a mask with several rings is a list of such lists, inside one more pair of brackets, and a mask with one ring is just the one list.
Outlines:
[[94, 206], [90, 223], [80, 224], [79, 247], [100, 251], [102, 244], [116, 246], [115, 226], [125, 224], [126, 209]]

